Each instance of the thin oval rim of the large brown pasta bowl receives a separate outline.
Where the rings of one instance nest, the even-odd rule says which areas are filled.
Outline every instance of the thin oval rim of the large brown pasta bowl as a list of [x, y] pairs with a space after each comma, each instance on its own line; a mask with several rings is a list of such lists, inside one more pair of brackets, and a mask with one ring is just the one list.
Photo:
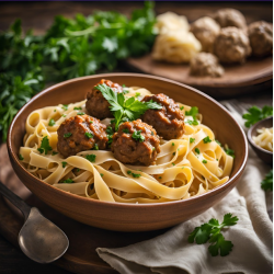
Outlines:
[[[71, 82], [77, 82], [77, 81], [81, 81], [82, 79], [92, 79], [92, 78], [98, 78], [98, 77], [102, 77], [102, 78], [109, 78], [109, 77], [135, 77], [135, 78], [149, 78], [149, 79], [152, 79], [152, 80], [159, 80], [159, 81], [164, 81], [164, 82], [169, 82], [169, 83], [172, 83], [172, 84], [176, 84], [176, 85], [180, 85], [182, 88], [185, 88], [185, 89], [189, 89], [191, 90], [192, 92], [196, 92], [198, 93], [201, 96], [204, 96], [205, 99], [212, 101], [213, 103], [217, 104], [220, 109], [222, 109], [222, 111], [225, 111], [227, 113], [227, 115], [235, 122], [236, 126], [240, 129], [240, 133], [241, 133], [241, 138], [243, 139], [244, 141], [244, 157], [242, 159], [242, 162], [241, 162], [241, 165], [239, 168], [239, 170], [236, 172], [236, 174], [231, 178], [229, 178], [229, 180], [224, 183], [222, 185], [219, 185], [217, 186], [216, 189], [209, 191], [209, 192], [206, 192], [206, 193], [203, 193], [198, 196], [193, 196], [193, 197], [190, 197], [187, 199], [179, 199], [179, 201], [172, 201], [172, 202], [167, 202], [167, 203], [153, 203], [153, 204], [129, 204], [129, 203], [119, 203], [119, 202], [103, 202], [103, 201], [98, 201], [98, 199], [92, 199], [92, 198], [88, 198], [88, 197], [82, 197], [82, 196], [78, 196], [76, 194], [72, 194], [72, 193], [68, 193], [66, 191], [62, 191], [62, 190], [59, 190], [57, 187], [54, 187], [45, 182], [43, 182], [42, 180], [37, 179], [36, 176], [34, 176], [33, 174], [31, 174], [30, 172], [27, 172], [23, 165], [21, 165], [20, 161], [18, 160], [18, 156], [15, 155], [15, 152], [13, 151], [12, 149], [12, 141], [11, 141], [11, 134], [12, 134], [12, 129], [13, 129], [13, 126], [14, 126], [14, 123], [15, 121], [20, 117], [21, 113], [26, 109], [26, 106], [28, 106], [30, 104], [33, 103], [33, 101], [36, 100], [36, 98], [39, 98], [41, 95], [56, 89], [57, 87], [60, 87], [60, 85], [64, 85], [64, 84], [68, 84], [68, 83], [71, 83]], [[242, 128], [239, 126], [239, 124], [235, 121], [235, 118], [232, 117], [232, 115], [225, 109], [225, 106], [222, 106], [220, 103], [218, 103], [216, 100], [214, 100], [213, 98], [208, 96], [207, 94], [190, 87], [190, 85], [186, 85], [186, 84], [183, 84], [183, 83], [180, 83], [180, 82], [176, 82], [176, 81], [173, 81], [173, 80], [170, 80], [170, 79], [165, 79], [165, 78], [162, 78], [162, 77], [157, 77], [157, 76], [150, 76], [150, 75], [142, 75], [142, 73], [128, 73], [128, 72], [117, 72], [117, 73], [102, 73], [102, 75], [94, 75], [94, 76], [87, 76], [87, 77], [79, 77], [79, 78], [75, 78], [75, 79], [71, 79], [71, 80], [67, 80], [67, 81], [64, 81], [64, 82], [60, 82], [60, 83], [57, 83], [57, 84], [54, 84], [43, 91], [41, 91], [39, 93], [37, 93], [35, 96], [33, 96], [25, 105], [23, 105], [20, 111], [18, 112], [18, 114], [14, 116], [14, 118], [12, 119], [12, 123], [9, 127], [9, 132], [8, 132], [8, 151], [9, 151], [9, 155], [10, 157], [12, 157], [12, 160], [14, 161], [14, 163], [20, 168], [20, 170], [24, 173], [27, 173], [28, 176], [32, 176], [35, 181], [37, 181], [39, 184], [44, 184], [45, 187], [50, 187], [50, 190], [53, 192], [56, 192], [60, 195], [64, 195], [64, 196], [67, 196], [71, 199], [75, 199], [76, 202], [79, 201], [79, 202], [82, 202], [82, 203], [90, 203], [90, 204], [100, 204], [102, 206], [106, 206], [106, 205], [112, 205], [114, 207], [140, 207], [140, 208], [147, 208], [147, 207], [162, 207], [162, 206], [172, 206], [173, 204], [179, 204], [179, 203], [184, 203], [184, 204], [192, 204], [192, 203], [195, 203], [197, 199], [208, 199], [210, 198], [212, 196], [214, 195], [217, 195], [218, 193], [222, 192], [230, 183], [232, 183], [232, 181], [237, 180], [241, 173], [243, 172], [243, 169], [247, 164], [247, 160], [248, 160], [248, 140], [247, 140], [247, 137], [246, 137], [246, 134], [242, 130]]]

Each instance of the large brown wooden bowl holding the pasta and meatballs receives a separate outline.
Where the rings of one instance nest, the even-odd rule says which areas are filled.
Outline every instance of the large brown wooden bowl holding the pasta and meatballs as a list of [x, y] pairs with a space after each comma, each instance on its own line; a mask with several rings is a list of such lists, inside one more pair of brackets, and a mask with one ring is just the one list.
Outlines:
[[[85, 93], [102, 78], [121, 84], [139, 85], [152, 93], [165, 93], [178, 102], [198, 106], [203, 123], [222, 144], [236, 151], [230, 180], [215, 190], [184, 201], [163, 204], [122, 204], [94, 201], [55, 189], [28, 173], [19, 161], [19, 149], [25, 134], [27, 115], [39, 107], [68, 104], [83, 100]], [[117, 231], [147, 231], [174, 226], [205, 212], [236, 185], [248, 158], [248, 141], [243, 130], [215, 100], [185, 84], [147, 75], [107, 73], [72, 79], [55, 84], [25, 104], [11, 123], [8, 134], [11, 163], [21, 181], [43, 202], [83, 224]]]

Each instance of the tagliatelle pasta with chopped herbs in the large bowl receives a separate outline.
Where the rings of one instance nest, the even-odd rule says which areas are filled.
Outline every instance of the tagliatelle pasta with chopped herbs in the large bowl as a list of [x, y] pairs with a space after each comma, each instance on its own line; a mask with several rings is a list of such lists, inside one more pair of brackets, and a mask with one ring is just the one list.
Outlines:
[[[151, 93], [133, 87], [127, 95], [142, 98], [147, 94]], [[163, 203], [203, 194], [228, 181], [233, 158], [215, 141], [213, 130], [202, 124], [202, 115], [198, 123], [185, 116], [182, 138], [161, 140], [161, 152], [155, 165], [124, 164], [107, 150], [82, 151], [65, 159], [57, 153], [57, 129], [65, 119], [78, 114], [77, 109], [85, 112], [84, 104], [85, 100], [47, 106], [28, 115], [24, 146], [20, 148], [21, 162], [45, 183], [104, 202]], [[180, 106], [184, 112], [191, 110], [181, 103]], [[110, 119], [102, 123], [110, 124]], [[38, 150], [45, 136], [52, 147], [46, 155]], [[88, 160], [87, 155], [93, 155], [94, 161]]]

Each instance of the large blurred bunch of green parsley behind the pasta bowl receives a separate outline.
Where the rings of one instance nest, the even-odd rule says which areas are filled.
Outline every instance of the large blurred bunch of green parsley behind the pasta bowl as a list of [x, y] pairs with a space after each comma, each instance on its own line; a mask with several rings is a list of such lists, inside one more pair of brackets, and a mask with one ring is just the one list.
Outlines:
[[153, 2], [129, 19], [117, 12], [55, 18], [45, 35], [22, 33], [16, 20], [0, 33], [0, 133], [45, 83], [113, 70], [118, 60], [148, 53], [156, 37]]

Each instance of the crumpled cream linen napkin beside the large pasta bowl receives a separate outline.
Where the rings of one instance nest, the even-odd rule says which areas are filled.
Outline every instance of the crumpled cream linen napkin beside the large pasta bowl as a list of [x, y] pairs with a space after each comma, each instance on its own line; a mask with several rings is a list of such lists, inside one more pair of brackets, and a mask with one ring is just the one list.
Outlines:
[[[98, 254], [122, 274], [220, 274], [273, 273], [273, 224], [267, 215], [265, 193], [261, 181], [271, 167], [264, 164], [250, 149], [246, 171], [237, 187], [214, 207], [168, 232], [148, 241], [125, 248], [98, 248]], [[266, 195], [272, 206], [273, 193]], [[212, 256], [208, 243], [189, 243], [195, 227], [224, 215], [238, 216], [236, 226], [224, 231], [233, 243], [227, 256]]]

